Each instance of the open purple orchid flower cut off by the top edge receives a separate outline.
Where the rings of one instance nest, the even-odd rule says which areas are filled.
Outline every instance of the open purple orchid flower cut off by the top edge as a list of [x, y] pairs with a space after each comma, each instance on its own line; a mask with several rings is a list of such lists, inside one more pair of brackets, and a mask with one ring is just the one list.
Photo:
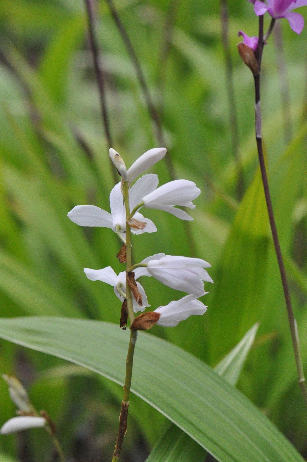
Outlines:
[[257, 16], [262, 16], [267, 11], [274, 19], [287, 18], [291, 29], [300, 34], [304, 27], [304, 18], [299, 13], [292, 13], [292, 10], [306, 5], [307, 0], [267, 0], [267, 5], [256, 0], [254, 11]]

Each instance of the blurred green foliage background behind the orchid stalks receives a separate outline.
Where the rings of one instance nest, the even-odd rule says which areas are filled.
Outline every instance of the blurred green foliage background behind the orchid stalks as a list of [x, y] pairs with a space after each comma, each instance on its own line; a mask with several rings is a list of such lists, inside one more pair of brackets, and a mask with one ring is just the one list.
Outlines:
[[[233, 160], [220, 3], [117, 0], [115, 5], [161, 116], [176, 177], [195, 181], [202, 189], [188, 233], [181, 220], [167, 213], [144, 212], [158, 233], [134, 237], [135, 261], [156, 252], [197, 256], [211, 263], [215, 281], [205, 286], [210, 293], [203, 298], [208, 305], [204, 316], [190, 317], [176, 328], [155, 326], [151, 333], [215, 366], [254, 322], [260, 322], [239, 389], [306, 457], [306, 409], [296, 384], [258, 171], [253, 79], [236, 48], [238, 30], [257, 35], [252, 5], [246, 0], [228, 4], [242, 198], [237, 195]], [[113, 147], [129, 166], [159, 144], [108, 6], [101, 0], [96, 7]], [[297, 36], [285, 19], [280, 23], [279, 35], [273, 34], [264, 50], [263, 135], [307, 365], [307, 30]], [[290, 104], [282, 106], [287, 95]], [[117, 323], [120, 302], [112, 287], [87, 280], [83, 267], [111, 265], [122, 271], [115, 257], [119, 240], [109, 229], [81, 228], [66, 216], [79, 204], [109, 211], [113, 187], [81, 0], [1, 1], [0, 105], [1, 316], [72, 316]], [[160, 184], [170, 181], [166, 162], [152, 171]], [[143, 285], [153, 309], [178, 298], [178, 292], [153, 278], [144, 279]], [[111, 460], [120, 387], [5, 341], [0, 342], [0, 370], [16, 375], [33, 404], [49, 412], [69, 460]], [[2, 425], [15, 410], [2, 380], [0, 396]], [[131, 401], [123, 460], [141, 462], [167, 421], [135, 396]], [[1, 436], [0, 448], [8, 461], [49, 461], [50, 443], [42, 433]]]

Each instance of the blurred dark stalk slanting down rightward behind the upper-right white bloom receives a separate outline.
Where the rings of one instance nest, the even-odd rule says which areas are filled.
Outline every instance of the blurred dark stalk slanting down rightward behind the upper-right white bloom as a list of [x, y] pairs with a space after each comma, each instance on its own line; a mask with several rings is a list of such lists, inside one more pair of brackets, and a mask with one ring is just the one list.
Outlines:
[[[132, 61], [132, 64], [133, 66], [135, 67], [135, 73], [136, 73], [136, 76], [137, 76], [137, 79], [139, 80], [139, 83], [141, 85], [141, 90], [143, 92], [143, 95], [144, 95], [144, 98], [145, 98], [145, 102], [146, 102], [146, 105], [147, 105], [147, 108], [148, 108], [148, 112], [154, 122], [154, 125], [155, 125], [155, 128], [156, 128], [156, 136], [157, 136], [157, 140], [158, 142], [160, 143], [160, 146], [165, 146], [165, 140], [164, 140], [164, 136], [163, 136], [163, 131], [162, 131], [162, 124], [161, 124], [161, 121], [160, 121], [160, 117], [159, 117], [159, 114], [158, 114], [158, 111], [156, 110], [155, 106], [154, 106], [154, 102], [152, 100], [152, 97], [150, 95], [150, 92], [149, 92], [149, 88], [147, 86], [147, 83], [146, 83], [146, 80], [145, 80], [145, 77], [144, 77], [144, 74], [143, 74], [143, 71], [141, 69], [141, 65], [140, 65], [140, 62], [138, 60], [138, 57], [136, 56], [136, 53], [135, 53], [135, 50], [132, 46], [132, 43], [129, 39], [129, 36], [127, 34], [127, 31], [121, 21], [121, 18], [119, 17], [119, 14], [117, 12], [117, 9], [113, 3], [112, 0], [105, 0], [110, 8], [110, 12], [111, 12], [111, 15], [112, 15], [112, 18], [117, 26], [117, 29], [120, 33], [120, 35], [122, 36], [122, 39], [123, 39], [123, 43], [125, 44], [125, 47], [128, 51], [128, 54], [130, 56], [130, 59]], [[170, 158], [169, 155], [166, 155], [166, 165], [167, 165], [167, 170], [169, 172], [169, 175], [170, 177], [172, 178], [172, 180], [175, 179], [175, 173], [174, 173], [174, 167], [173, 167], [173, 164], [172, 164], [172, 159]]]

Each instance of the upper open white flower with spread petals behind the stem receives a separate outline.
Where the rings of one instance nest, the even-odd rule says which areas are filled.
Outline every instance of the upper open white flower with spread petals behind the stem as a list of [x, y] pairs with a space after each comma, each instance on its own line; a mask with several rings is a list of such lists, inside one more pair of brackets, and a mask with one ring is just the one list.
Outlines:
[[[143, 154], [143, 156], [145, 154]], [[134, 207], [141, 202], [144, 195], [148, 195], [154, 191], [158, 183], [159, 180], [157, 175], [147, 174], [139, 178], [129, 190], [130, 210], [133, 210]], [[111, 213], [108, 213], [102, 208], [94, 205], [77, 205], [68, 213], [68, 218], [80, 226], [102, 226], [104, 228], [111, 228], [114, 232], [119, 233], [124, 240], [126, 232], [126, 210], [123, 204], [121, 183], [117, 183], [111, 191], [110, 208]], [[146, 226], [144, 229], [131, 228], [132, 233], [141, 234], [143, 232], [157, 231], [154, 223], [150, 219], [144, 218], [141, 213], [135, 213], [134, 218], [145, 222]]]

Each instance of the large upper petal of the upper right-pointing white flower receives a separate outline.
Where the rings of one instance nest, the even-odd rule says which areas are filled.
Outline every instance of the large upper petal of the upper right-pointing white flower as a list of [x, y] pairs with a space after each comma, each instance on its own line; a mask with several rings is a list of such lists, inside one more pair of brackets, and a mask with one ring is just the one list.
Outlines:
[[186, 205], [196, 199], [200, 193], [201, 190], [192, 181], [174, 180], [143, 197], [143, 202], [145, 207], [148, 207], [151, 202], [161, 205]]

